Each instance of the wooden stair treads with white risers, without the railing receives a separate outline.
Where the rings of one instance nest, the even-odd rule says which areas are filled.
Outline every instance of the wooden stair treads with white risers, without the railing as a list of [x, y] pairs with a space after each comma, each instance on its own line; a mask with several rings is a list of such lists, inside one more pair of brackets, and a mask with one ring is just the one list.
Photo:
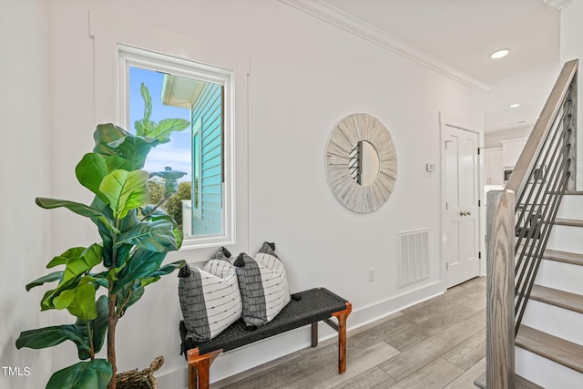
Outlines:
[[583, 388], [583, 192], [563, 197], [515, 344], [517, 389]]

